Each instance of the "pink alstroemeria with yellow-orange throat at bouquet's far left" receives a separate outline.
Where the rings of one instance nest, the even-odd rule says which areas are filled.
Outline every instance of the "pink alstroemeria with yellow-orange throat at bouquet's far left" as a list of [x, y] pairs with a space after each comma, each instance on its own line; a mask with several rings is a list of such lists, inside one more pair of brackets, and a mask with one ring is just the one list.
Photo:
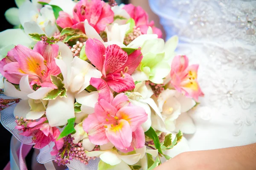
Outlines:
[[19, 84], [21, 77], [29, 75], [30, 86], [57, 88], [51, 82], [51, 75], [57, 76], [61, 70], [55, 63], [58, 57], [58, 45], [44, 44], [39, 41], [29, 49], [17, 45], [0, 61], [0, 73], [14, 84]]

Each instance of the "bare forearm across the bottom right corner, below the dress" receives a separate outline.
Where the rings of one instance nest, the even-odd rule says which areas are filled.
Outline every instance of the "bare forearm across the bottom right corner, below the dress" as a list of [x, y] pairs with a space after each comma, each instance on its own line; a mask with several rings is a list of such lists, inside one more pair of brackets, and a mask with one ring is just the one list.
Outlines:
[[181, 153], [155, 170], [256, 170], [256, 143]]

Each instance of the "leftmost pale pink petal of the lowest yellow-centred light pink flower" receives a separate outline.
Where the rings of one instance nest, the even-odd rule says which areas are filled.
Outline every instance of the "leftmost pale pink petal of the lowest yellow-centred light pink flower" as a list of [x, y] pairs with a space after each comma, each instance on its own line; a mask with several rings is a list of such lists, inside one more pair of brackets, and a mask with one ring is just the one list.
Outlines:
[[88, 133], [90, 142], [93, 144], [102, 145], [109, 142], [106, 128], [98, 121], [96, 114], [90, 114], [84, 119], [83, 129]]

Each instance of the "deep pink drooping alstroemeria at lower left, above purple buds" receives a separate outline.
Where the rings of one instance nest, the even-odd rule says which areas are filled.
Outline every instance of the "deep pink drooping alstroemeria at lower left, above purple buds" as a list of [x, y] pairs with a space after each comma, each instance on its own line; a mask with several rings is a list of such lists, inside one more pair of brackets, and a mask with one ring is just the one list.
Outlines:
[[[34, 148], [42, 149], [50, 142], [55, 142], [54, 149], [60, 150], [64, 141], [63, 139], [59, 139], [58, 141], [56, 139], [61, 133], [57, 127], [51, 127], [46, 121], [46, 117], [42, 117], [38, 122], [29, 122], [26, 125], [27, 130], [20, 133], [20, 135], [32, 136], [32, 142], [35, 143]], [[15, 128], [21, 129], [24, 128], [24, 126], [16, 126]]]

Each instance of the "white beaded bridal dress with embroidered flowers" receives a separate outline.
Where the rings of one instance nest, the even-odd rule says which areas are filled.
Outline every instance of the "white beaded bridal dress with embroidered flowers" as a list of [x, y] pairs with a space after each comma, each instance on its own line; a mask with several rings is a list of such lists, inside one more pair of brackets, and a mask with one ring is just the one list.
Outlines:
[[[177, 54], [199, 64], [205, 96], [189, 113], [190, 150], [256, 142], [256, 0], [149, 0]], [[186, 126], [186, 125], [184, 125]]]

